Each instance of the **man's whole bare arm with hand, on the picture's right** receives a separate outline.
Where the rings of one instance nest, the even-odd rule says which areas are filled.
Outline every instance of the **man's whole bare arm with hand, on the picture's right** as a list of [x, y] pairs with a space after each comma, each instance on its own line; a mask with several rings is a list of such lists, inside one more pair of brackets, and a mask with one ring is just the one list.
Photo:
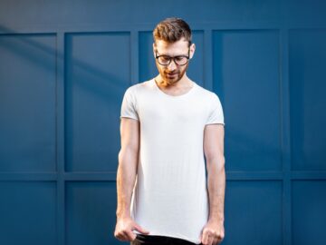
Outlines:
[[206, 156], [209, 217], [202, 230], [204, 245], [220, 243], [225, 237], [225, 128], [223, 124], [208, 124], [204, 130], [204, 152]]

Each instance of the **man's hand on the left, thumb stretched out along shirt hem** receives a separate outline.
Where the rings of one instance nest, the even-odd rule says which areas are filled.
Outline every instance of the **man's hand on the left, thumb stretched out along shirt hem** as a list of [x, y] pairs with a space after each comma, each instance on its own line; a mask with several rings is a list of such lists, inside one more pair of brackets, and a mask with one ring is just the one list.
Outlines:
[[136, 239], [136, 234], [132, 230], [137, 230], [143, 234], [149, 234], [148, 230], [144, 230], [131, 218], [119, 218], [114, 230], [114, 237], [121, 241], [132, 241]]

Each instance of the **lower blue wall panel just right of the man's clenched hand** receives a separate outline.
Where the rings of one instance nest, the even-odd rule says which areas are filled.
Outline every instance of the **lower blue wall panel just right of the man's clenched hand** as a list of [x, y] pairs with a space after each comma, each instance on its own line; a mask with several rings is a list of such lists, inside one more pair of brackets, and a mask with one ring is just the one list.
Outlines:
[[282, 182], [228, 181], [225, 244], [282, 244]]

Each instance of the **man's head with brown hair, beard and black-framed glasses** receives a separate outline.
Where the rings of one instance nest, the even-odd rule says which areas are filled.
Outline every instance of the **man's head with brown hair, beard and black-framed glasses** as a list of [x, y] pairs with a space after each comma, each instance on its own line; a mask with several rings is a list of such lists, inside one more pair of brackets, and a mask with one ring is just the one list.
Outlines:
[[153, 38], [158, 73], [166, 83], [177, 83], [185, 75], [188, 60], [195, 53], [189, 25], [179, 18], [165, 19], [154, 29]]

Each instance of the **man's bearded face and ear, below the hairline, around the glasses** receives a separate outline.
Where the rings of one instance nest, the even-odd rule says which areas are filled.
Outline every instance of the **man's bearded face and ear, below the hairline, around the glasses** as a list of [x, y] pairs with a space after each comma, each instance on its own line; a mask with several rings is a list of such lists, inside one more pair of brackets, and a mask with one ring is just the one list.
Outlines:
[[[185, 55], [192, 58], [195, 52], [195, 44], [190, 47], [185, 39], [181, 39], [175, 43], [168, 43], [163, 40], [157, 40], [156, 44], [153, 44], [154, 55], [167, 55], [170, 57]], [[158, 64], [158, 60], [155, 60], [158, 67], [158, 73], [162, 80], [168, 84], [174, 84], [181, 80], [185, 75], [188, 67], [188, 62], [185, 65], [177, 65], [172, 59], [170, 64], [162, 65]]]

